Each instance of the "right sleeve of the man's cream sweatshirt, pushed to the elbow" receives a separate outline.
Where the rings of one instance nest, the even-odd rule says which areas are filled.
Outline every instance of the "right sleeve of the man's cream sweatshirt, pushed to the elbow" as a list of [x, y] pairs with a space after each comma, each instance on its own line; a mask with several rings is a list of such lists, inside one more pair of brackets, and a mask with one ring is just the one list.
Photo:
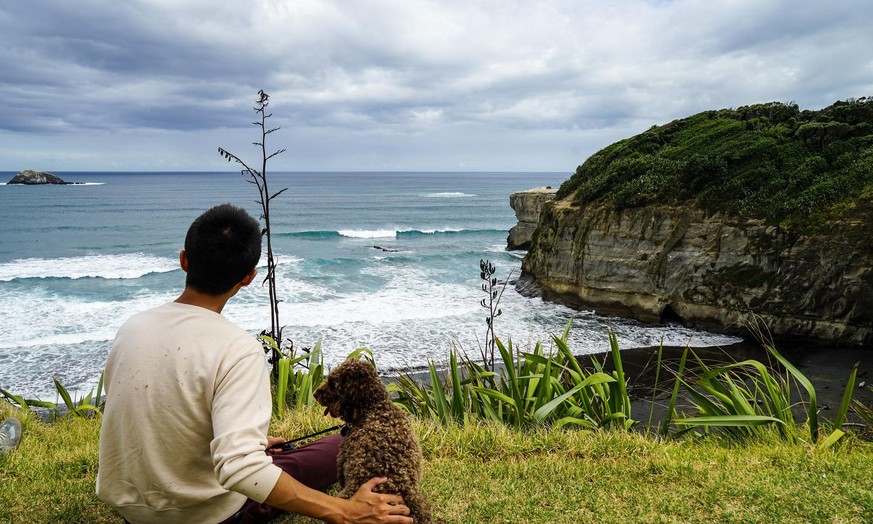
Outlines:
[[269, 376], [258, 346], [216, 377], [210, 444], [219, 484], [257, 502], [266, 500], [282, 472], [264, 452], [271, 414]]

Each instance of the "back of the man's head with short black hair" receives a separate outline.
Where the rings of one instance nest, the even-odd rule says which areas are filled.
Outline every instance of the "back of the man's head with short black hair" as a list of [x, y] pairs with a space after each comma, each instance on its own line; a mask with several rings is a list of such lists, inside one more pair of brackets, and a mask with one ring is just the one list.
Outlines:
[[201, 293], [221, 295], [239, 284], [261, 258], [261, 226], [245, 210], [215, 206], [188, 228], [185, 284]]

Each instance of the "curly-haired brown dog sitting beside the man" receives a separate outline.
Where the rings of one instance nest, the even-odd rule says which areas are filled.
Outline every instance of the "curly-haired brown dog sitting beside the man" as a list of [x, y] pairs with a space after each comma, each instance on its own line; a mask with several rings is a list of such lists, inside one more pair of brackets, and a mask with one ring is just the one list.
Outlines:
[[375, 491], [402, 496], [416, 524], [433, 522], [430, 504], [419, 490], [418, 439], [373, 366], [362, 360], [343, 362], [315, 391], [315, 399], [325, 415], [349, 424], [337, 457], [339, 496], [350, 498], [373, 477], [387, 477]]

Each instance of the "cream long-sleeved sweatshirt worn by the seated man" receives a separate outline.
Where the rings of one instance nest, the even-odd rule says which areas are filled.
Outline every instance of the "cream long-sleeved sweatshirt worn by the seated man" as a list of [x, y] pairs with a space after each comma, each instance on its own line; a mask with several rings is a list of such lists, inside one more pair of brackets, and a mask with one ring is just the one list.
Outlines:
[[130, 522], [220, 522], [278, 481], [264, 351], [221, 315], [175, 302], [134, 315], [104, 384], [97, 495]]

